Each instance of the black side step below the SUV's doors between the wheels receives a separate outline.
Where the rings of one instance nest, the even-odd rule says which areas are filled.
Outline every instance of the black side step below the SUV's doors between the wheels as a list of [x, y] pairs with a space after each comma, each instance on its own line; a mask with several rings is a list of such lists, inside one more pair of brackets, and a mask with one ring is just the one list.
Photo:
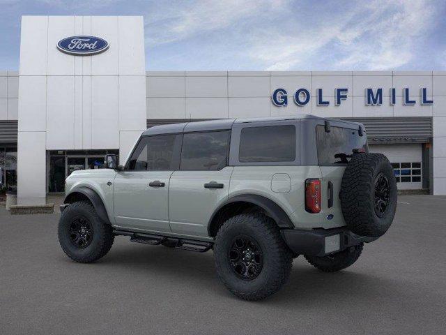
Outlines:
[[115, 235], [130, 236], [130, 241], [144, 244], [151, 244], [153, 246], [158, 244], [165, 244], [172, 248], [197, 251], [204, 253], [212, 248], [213, 243], [205, 241], [195, 241], [194, 239], [179, 239], [177, 237], [166, 237], [155, 234], [144, 234], [141, 232], [128, 232], [125, 230], [114, 230]]

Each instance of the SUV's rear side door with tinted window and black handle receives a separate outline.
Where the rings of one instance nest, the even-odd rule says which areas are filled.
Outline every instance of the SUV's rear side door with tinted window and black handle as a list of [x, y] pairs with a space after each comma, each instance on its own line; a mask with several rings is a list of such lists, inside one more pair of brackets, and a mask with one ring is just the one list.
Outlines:
[[230, 131], [185, 133], [180, 170], [169, 184], [172, 232], [208, 237], [208, 221], [229, 194], [233, 167], [227, 166]]

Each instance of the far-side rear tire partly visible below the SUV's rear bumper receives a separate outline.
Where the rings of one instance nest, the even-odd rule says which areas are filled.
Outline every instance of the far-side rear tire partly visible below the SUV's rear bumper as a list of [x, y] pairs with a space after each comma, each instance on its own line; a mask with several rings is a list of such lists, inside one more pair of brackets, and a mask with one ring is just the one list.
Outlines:
[[346, 250], [340, 251], [339, 253], [333, 253], [332, 255], [323, 257], [305, 255], [305, 259], [309, 264], [316, 267], [316, 269], [324, 272], [334, 272], [353, 265], [360, 257], [362, 248], [364, 248], [363, 243], [346, 248]]

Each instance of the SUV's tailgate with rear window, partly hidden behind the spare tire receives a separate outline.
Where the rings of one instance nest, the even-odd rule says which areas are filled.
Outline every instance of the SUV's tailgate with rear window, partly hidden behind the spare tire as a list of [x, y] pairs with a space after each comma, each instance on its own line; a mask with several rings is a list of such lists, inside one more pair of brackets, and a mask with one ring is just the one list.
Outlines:
[[[365, 132], [359, 135], [358, 126], [330, 122], [330, 132], [323, 125], [316, 126], [318, 164], [322, 172], [323, 227], [334, 228], [345, 225], [341, 211], [342, 176], [354, 149], [368, 151]], [[336, 126], [334, 126], [336, 125]]]

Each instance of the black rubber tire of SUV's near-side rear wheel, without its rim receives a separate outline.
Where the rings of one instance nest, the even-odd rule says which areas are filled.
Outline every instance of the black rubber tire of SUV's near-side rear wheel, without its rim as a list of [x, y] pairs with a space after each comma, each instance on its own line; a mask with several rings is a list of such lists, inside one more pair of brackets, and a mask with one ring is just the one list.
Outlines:
[[[247, 236], [263, 253], [263, 267], [256, 278], [244, 280], [233, 271], [230, 250], [233, 240]], [[215, 267], [226, 288], [237, 297], [255, 301], [277, 292], [289, 278], [293, 254], [284, 243], [275, 222], [259, 212], [228, 218], [217, 232], [214, 245]]]

